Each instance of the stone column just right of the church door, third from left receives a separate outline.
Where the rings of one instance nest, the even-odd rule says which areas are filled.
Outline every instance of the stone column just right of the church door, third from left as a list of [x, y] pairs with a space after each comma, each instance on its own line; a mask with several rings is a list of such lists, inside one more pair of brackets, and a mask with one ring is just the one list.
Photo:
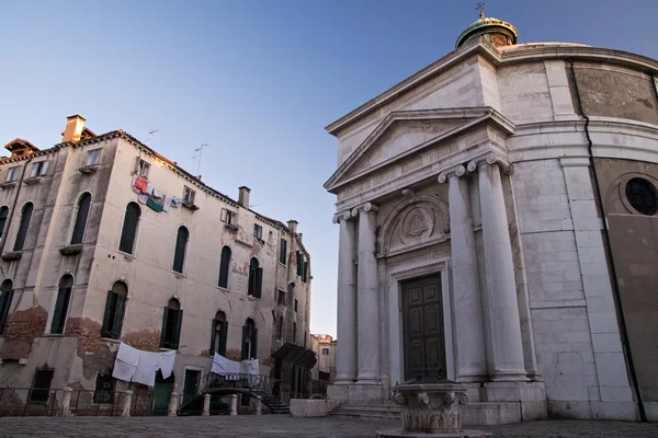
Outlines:
[[487, 379], [487, 356], [483, 324], [483, 303], [479, 274], [473, 234], [470, 184], [464, 177], [463, 165], [439, 175], [439, 182], [449, 181], [450, 242], [452, 292], [458, 382]]

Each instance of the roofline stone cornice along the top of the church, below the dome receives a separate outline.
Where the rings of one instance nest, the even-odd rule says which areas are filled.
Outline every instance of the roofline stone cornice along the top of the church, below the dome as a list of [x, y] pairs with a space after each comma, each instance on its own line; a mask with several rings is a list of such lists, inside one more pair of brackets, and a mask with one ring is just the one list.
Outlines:
[[328, 125], [325, 129], [329, 134], [338, 136], [341, 130], [348, 128], [359, 119], [475, 55], [483, 56], [495, 66], [551, 59], [572, 59], [577, 61], [604, 62], [624, 66], [649, 74], [658, 74], [658, 60], [622, 50], [560, 44], [529, 44], [524, 46], [509, 46], [507, 49], [500, 51], [484, 38], [475, 38], [464, 44], [457, 50], [447, 54], [443, 58], [402, 80], [395, 87], [367, 101], [356, 110]]

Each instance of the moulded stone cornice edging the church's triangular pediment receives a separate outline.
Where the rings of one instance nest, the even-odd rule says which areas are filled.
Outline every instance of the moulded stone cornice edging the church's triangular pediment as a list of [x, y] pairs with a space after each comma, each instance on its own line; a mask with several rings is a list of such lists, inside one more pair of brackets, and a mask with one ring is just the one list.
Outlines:
[[[418, 145], [408, 151], [397, 154], [392, 159], [384, 161], [383, 163], [376, 164], [356, 175], [347, 176], [348, 172], [352, 170], [361, 159], [367, 154], [367, 151], [376, 145], [376, 142], [385, 136], [388, 128], [396, 122], [399, 120], [450, 120], [450, 119], [468, 119], [463, 125], [460, 125], [453, 129], [449, 129], [438, 137], [426, 141], [424, 143]], [[476, 108], [449, 108], [449, 110], [429, 110], [429, 111], [402, 111], [393, 112], [379, 126], [356, 148], [356, 150], [345, 160], [344, 163], [331, 175], [331, 177], [325, 183], [325, 188], [329, 192], [336, 192], [340, 187], [351, 183], [352, 181], [362, 178], [382, 168], [389, 166], [396, 162], [400, 162], [407, 159], [410, 154], [418, 153], [419, 151], [432, 147], [438, 142], [447, 141], [451, 138], [460, 136], [470, 129], [475, 129], [483, 125], [489, 125], [501, 131], [504, 136], [514, 134], [514, 124], [506, 118], [498, 111], [490, 106], [476, 107]]]

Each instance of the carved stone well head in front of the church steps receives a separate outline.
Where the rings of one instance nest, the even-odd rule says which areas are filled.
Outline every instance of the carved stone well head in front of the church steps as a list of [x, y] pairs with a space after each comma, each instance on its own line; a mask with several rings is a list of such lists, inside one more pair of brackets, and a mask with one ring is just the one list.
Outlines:
[[462, 431], [466, 387], [439, 377], [421, 377], [396, 384], [393, 401], [400, 405], [402, 427], [409, 433]]

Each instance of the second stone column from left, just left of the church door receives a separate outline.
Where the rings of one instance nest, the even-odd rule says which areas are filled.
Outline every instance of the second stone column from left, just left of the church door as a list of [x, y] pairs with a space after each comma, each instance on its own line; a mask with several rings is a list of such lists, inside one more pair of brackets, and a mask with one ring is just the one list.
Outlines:
[[371, 203], [352, 210], [352, 216], [359, 215], [356, 380], [361, 384], [379, 383], [379, 288], [375, 258], [377, 210]]

